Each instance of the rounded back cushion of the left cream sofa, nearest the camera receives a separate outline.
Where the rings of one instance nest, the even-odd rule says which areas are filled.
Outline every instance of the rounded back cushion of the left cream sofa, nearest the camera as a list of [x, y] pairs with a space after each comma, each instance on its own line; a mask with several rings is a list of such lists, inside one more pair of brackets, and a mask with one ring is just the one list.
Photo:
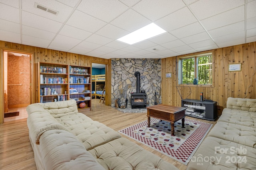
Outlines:
[[44, 170], [105, 170], [67, 131], [47, 131], [42, 134], [40, 143]]

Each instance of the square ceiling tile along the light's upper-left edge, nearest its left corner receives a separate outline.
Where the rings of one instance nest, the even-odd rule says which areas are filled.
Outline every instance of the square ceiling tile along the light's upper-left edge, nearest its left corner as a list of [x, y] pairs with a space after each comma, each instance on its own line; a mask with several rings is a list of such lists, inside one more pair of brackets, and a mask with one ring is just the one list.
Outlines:
[[118, 39], [128, 33], [128, 31], [125, 31], [124, 29], [118, 28], [111, 24], [105, 25], [102, 29], [96, 32], [98, 35], [102, 35], [103, 37], [108, 37], [111, 39]]

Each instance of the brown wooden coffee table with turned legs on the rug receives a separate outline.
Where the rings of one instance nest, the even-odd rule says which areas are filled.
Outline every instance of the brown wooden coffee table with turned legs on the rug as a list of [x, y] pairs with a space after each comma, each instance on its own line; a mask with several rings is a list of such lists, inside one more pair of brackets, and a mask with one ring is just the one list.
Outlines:
[[146, 108], [148, 109], [148, 127], [150, 127], [150, 117], [155, 117], [171, 123], [172, 135], [174, 135], [174, 122], [182, 119], [182, 127], [184, 128], [186, 108], [166, 104], [148, 106]]

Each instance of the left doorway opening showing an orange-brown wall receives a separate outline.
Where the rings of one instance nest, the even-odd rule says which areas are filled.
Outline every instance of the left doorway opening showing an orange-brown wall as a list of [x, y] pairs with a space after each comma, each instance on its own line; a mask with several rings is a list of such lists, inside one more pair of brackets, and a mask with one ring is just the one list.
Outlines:
[[4, 51], [4, 122], [28, 117], [32, 54]]

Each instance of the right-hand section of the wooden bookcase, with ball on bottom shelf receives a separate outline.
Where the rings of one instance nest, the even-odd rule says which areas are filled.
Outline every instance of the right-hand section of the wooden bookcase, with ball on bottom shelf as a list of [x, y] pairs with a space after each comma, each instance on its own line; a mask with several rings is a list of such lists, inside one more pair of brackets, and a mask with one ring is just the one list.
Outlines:
[[91, 68], [69, 66], [69, 96], [77, 102], [78, 110], [91, 108]]

